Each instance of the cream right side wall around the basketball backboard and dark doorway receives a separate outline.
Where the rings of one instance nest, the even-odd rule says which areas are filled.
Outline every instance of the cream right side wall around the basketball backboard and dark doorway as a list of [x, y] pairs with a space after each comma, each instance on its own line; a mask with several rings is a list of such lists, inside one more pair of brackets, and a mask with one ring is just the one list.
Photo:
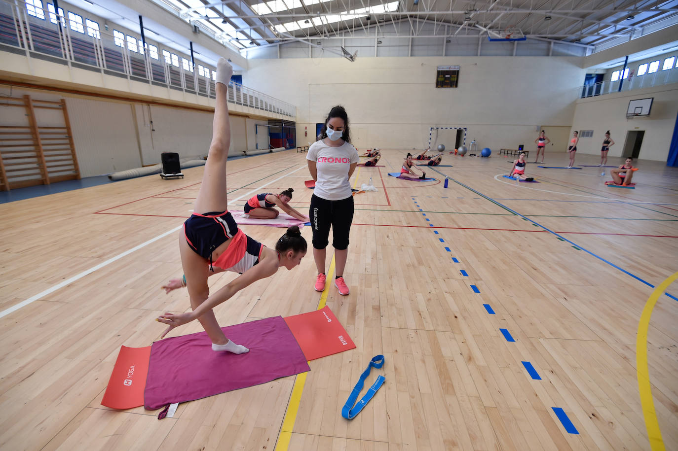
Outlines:
[[[629, 100], [653, 97], [650, 116], [626, 119]], [[645, 131], [639, 158], [666, 161], [678, 114], [678, 85], [634, 89], [580, 99], [574, 112], [572, 130], [593, 130], [592, 138], [579, 140], [578, 152], [599, 154], [605, 131], [614, 139], [609, 156], [622, 156], [627, 131]]]

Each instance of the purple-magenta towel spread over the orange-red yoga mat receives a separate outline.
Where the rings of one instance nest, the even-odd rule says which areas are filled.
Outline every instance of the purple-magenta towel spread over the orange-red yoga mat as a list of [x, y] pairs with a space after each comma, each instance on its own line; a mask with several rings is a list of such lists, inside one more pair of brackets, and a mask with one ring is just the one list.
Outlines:
[[144, 391], [146, 409], [199, 400], [311, 370], [281, 316], [222, 330], [250, 352], [237, 355], [212, 351], [212, 341], [205, 332], [153, 343]]

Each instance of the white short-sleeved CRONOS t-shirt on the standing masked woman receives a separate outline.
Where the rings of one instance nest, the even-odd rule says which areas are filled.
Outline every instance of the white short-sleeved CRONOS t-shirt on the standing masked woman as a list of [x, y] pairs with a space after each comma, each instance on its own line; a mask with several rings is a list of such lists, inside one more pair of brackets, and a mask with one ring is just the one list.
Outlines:
[[351, 184], [348, 182], [348, 169], [358, 163], [360, 157], [355, 147], [344, 142], [340, 147], [330, 147], [324, 142], [311, 144], [306, 160], [315, 161], [318, 177], [314, 194], [325, 200], [342, 200], [351, 197]]

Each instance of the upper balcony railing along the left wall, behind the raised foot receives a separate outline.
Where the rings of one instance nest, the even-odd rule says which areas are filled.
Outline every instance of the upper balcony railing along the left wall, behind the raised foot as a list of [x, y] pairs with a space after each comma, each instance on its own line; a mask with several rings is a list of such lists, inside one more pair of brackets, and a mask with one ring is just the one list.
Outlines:
[[[39, 11], [39, 8], [35, 9]], [[151, 58], [148, 49], [144, 49], [143, 54], [130, 51], [126, 42], [116, 45], [113, 35], [103, 30], [97, 33], [100, 37], [88, 36], [86, 30], [85, 33], [74, 32], [68, 26], [67, 18], [58, 16], [60, 23], [54, 24], [50, 20], [54, 13], [47, 9], [42, 12], [45, 19], [37, 19], [28, 15], [24, 1], [8, 3], [0, 0], [0, 49], [25, 53], [26, 58], [58, 61], [69, 67], [215, 98], [214, 80], [199, 75], [197, 69], [185, 70], [182, 66], [167, 64], [161, 54], [159, 59]], [[161, 49], [157, 51], [161, 52]], [[292, 104], [233, 81], [228, 87], [228, 102], [296, 117], [296, 106]]]

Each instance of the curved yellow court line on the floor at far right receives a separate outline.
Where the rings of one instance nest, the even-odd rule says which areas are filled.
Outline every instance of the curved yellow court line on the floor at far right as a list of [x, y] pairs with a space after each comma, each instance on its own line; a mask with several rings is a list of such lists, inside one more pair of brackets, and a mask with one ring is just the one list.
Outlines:
[[650, 383], [650, 369], [647, 365], [647, 329], [650, 327], [650, 317], [657, 300], [666, 292], [666, 288], [678, 279], [678, 272], [669, 276], [657, 288], [654, 289], [650, 299], [647, 299], [643, 313], [638, 323], [638, 333], [636, 335], [636, 371], [638, 377], [638, 390], [640, 392], [640, 403], [643, 407], [643, 416], [645, 417], [645, 427], [647, 428], [647, 437], [650, 439], [650, 448], [652, 451], [664, 451], [664, 440], [662, 431], [659, 429], [657, 421], [657, 412], [654, 410], [654, 400], [652, 398], [652, 384]]

